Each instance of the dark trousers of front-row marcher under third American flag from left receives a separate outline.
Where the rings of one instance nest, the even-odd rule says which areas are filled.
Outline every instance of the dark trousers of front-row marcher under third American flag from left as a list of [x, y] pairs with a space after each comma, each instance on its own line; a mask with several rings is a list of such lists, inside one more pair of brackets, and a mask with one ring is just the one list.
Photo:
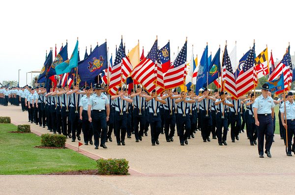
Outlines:
[[[183, 116], [183, 114], [178, 114], [177, 121], [178, 121], [178, 127], [179, 127], [179, 130], [178, 130], [179, 141], [180, 143], [184, 143], [184, 140], [187, 139], [191, 129], [189, 114], [187, 113], [185, 114], [185, 116]], [[185, 130], [185, 133], [184, 133], [184, 130]]]

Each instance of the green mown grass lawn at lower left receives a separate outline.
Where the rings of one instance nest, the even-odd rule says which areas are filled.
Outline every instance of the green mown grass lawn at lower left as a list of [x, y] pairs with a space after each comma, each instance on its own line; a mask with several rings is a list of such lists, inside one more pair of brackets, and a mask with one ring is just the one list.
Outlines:
[[41, 137], [13, 134], [13, 124], [0, 124], [0, 174], [44, 174], [95, 169], [96, 162], [70, 149], [39, 149]]

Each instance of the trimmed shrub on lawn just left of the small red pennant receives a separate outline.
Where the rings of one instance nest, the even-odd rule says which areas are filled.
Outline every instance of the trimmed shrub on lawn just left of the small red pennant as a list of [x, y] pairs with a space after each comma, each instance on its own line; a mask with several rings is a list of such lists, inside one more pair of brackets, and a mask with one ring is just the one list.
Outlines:
[[46, 147], [64, 147], [66, 137], [59, 134], [42, 134], [41, 146]]

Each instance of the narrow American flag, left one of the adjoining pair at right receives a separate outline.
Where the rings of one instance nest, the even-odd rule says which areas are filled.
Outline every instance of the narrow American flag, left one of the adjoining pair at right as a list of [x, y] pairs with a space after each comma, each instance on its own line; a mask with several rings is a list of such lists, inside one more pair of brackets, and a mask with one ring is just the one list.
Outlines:
[[223, 87], [236, 99], [236, 80], [231, 64], [231, 59], [227, 51], [227, 46], [225, 46], [223, 57], [222, 57], [222, 66], [224, 67], [224, 77], [223, 77]]

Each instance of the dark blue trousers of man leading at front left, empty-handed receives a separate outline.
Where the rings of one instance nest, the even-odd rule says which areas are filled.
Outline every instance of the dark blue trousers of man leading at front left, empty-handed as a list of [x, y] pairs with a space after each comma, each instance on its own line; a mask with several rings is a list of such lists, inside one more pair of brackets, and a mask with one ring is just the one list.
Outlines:
[[100, 144], [105, 144], [107, 138], [107, 115], [106, 111], [91, 111], [92, 118], [92, 128], [94, 145], [98, 147], [99, 145], [99, 132], [101, 132]]

